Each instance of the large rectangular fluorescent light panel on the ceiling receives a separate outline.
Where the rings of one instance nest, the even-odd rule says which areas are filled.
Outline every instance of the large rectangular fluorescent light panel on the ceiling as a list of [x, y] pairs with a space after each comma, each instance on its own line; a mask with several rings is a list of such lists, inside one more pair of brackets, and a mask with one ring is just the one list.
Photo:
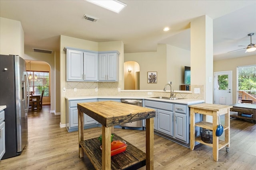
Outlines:
[[87, 0], [87, 1], [116, 13], [119, 13], [126, 6], [126, 4], [118, 0]]

